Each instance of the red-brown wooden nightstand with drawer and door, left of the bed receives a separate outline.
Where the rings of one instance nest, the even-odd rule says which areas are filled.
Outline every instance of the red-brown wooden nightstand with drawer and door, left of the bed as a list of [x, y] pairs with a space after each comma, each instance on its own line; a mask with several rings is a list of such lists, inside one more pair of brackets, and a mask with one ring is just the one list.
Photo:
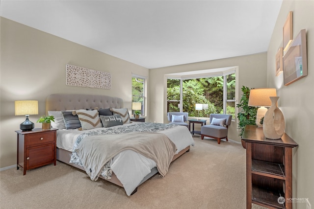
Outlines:
[[53, 163], [56, 165], [56, 131], [34, 128], [32, 131], [15, 131], [18, 133], [17, 169], [26, 170]]

